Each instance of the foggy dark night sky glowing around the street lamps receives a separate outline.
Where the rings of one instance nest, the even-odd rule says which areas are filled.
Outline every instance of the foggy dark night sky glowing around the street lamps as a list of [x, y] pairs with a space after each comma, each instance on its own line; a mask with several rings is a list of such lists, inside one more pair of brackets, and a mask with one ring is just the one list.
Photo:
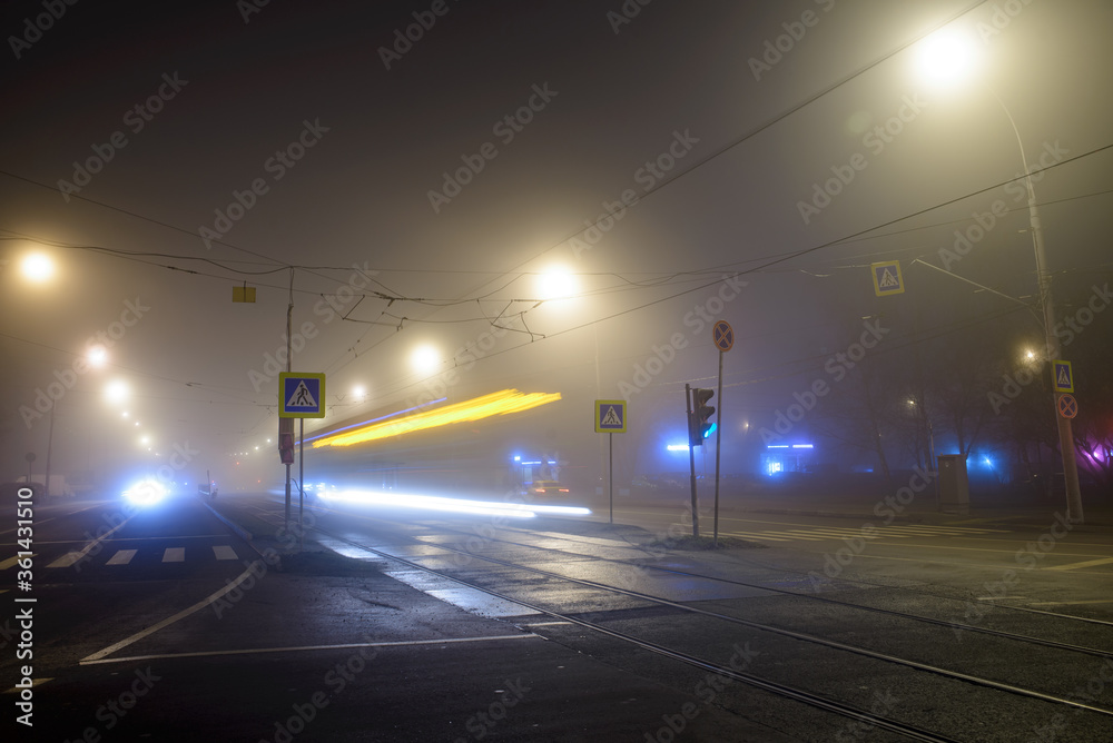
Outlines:
[[[382, 49], [432, 6], [444, 14], [386, 69]], [[1009, 211], [951, 270], [1012, 296], [1034, 290], [1017, 186], [983, 190], [1022, 170], [991, 89], [1030, 161], [1101, 150], [1044, 174], [1036, 192], [1050, 268], [1064, 276], [1056, 293], [1107, 280], [1110, 3], [626, 6], [640, 11], [620, 23], [619, 0], [270, 0], [246, 19], [254, 6], [234, 0], [78, 2], [27, 46], [12, 39], [43, 3], [4, 3], [3, 477], [26, 472], [23, 453], [41, 456], [48, 435], [49, 413], [27, 425], [20, 407], [33, 409], [37, 390], [65, 377], [129, 301], [149, 309], [112, 343], [110, 366], [78, 375], [56, 403], [56, 436], [68, 442], [58, 456], [122, 457], [134, 446], [121, 408], [102, 400], [112, 378], [127, 379], [124, 407], [162, 446], [188, 440], [216, 460], [273, 436], [277, 383], [257, 389], [253, 371], [267, 376], [266, 355], [285, 348], [290, 266], [294, 326], [314, 330], [294, 369], [328, 375], [327, 426], [420, 398], [430, 373], [410, 356], [421, 344], [439, 349], [437, 374], [457, 371], [451, 399], [560, 392], [552, 425], [568, 437], [588, 435], [595, 397], [629, 398], [648, 418], [678, 406], [684, 382], [710, 384], [710, 328], [686, 316], [738, 273], [747, 286], [720, 313], [736, 333], [727, 404], [732, 420], [768, 425], [825, 354], [858, 337], [863, 317], [888, 314], [894, 345], [954, 313], [987, 333], [1015, 320], [994, 320], [1008, 307], [971, 287], [909, 267], [942, 266], [954, 231], [1001, 200]], [[948, 21], [972, 34], [982, 66], [935, 90], [903, 48]], [[788, 50], [756, 75], [751, 60], [778, 37]], [[173, 95], [145, 120], [135, 108], [160, 86]], [[532, 120], [506, 125], [531, 97]], [[902, 111], [899, 133], [869, 138]], [[126, 143], [106, 150], [115, 132]], [[313, 141], [304, 157], [273, 159], [299, 137]], [[485, 145], [494, 157], [434, 208], [430, 191]], [[76, 182], [75, 162], [96, 159], [95, 147], [111, 157], [67, 202], [59, 181]], [[658, 177], [647, 162], [670, 147], [680, 155]], [[806, 224], [799, 202], [855, 156], [865, 167]], [[200, 228], [253, 181], [266, 192], [207, 247]], [[627, 190], [638, 202], [589, 246], [581, 230]], [[836, 244], [848, 236], [861, 237]], [[57, 266], [41, 286], [20, 276], [33, 249]], [[867, 266], [898, 259], [908, 291], [875, 297]], [[538, 306], [535, 275], [556, 265], [577, 275], [578, 296]], [[232, 303], [244, 281], [257, 288], [254, 305]], [[513, 329], [472, 365], [475, 354], [457, 350], [492, 321]], [[623, 394], [620, 383], [676, 334], [676, 359]], [[355, 384], [366, 400], [352, 397]]]

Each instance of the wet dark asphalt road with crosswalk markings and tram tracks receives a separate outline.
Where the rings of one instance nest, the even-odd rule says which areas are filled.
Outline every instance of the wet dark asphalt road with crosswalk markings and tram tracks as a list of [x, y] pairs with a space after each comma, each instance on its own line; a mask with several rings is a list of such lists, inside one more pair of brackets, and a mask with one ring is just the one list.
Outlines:
[[[1101, 623], [1113, 606], [1105, 527], [955, 517], [874, 533], [855, 517], [732, 513], [722, 531], [747, 548], [691, 553], [670, 536], [683, 522], [673, 504], [620, 508], [627, 524], [614, 526], [334, 504], [306, 511], [314, 552], [286, 554], [279, 568], [270, 551], [296, 539], [275, 536], [274, 496], [214, 505], [254, 538], [193, 497], [135, 514], [112, 499], [36, 508], [32, 590], [19, 591], [10, 567], [0, 584], [8, 690], [26, 665], [14, 598], [36, 600], [33, 729], [16, 720], [24, 692], [9, 691], [14, 740], [906, 740], [575, 620], [953, 740], [1113, 736], [1113, 716], [755, 626], [1111, 710], [1110, 657], [976, 632], [1113, 652]], [[4, 518], [0, 532], [14, 527], [14, 513]], [[2, 539], [14, 555], [14, 532]]]

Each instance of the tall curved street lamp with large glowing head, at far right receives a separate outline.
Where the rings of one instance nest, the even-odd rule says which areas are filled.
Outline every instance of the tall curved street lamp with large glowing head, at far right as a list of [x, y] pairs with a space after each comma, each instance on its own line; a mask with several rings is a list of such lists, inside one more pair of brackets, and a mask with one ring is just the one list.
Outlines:
[[[942, 29], [924, 39], [923, 46], [918, 50], [918, 67], [922, 76], [934, 83], [952, 82], [968, 77], [971, 67], [977, 60], [976, 46], [972, 39], [964, 37], [961, 31], [953, 27]], [[962, 75], [963, 72], [966, 75]], [[1032, 169], [1028, 167], [1028, 159], [1024, 152], [1024, 140], [1021, 131], [1013, 118], [1013, 112], [1005, 106], [1005, 101], [993, 88], [985, 85], [986, 90], [993, 99], [1001, 106], [1008, 125], [1016, 137], [1016, 145], [1021, 152], [1021, 164], [1024, 166], [1024, 185], [1028, 197], [1028, 224], [1032, 231], [1032, 246], [1036, 258], [1036, 284], [1040, 289], [1040, 304], [1043, 308], [1044, 341], [1047, 357], [1045, 363], [1060, 357], [1061, 347], [1058, 337], [1054, 333], [1055, 328], [1055, 305], [1051, 294], [1051, 274], [1047, 270], [1047, 254], [1044, 247], [1043, 226], [1040, 220], [1040, 209], [1036, 204], [1035, 185], [1032, 180]], [[1058, 414], [1058, 398], [1062, 393], [1053, 393], [1052, 413], [1055, 416], [1055, 426], [1058, 429], [1058, 446], [1063, 456], [1063, 477], [1066, 481], [1066, 517], [1074, 524], [1083, 523], [1082, 495], [1078, 489], [1078, 464], [1074, 450], [1074, 433], [1071, 429], [1071, 419]]]

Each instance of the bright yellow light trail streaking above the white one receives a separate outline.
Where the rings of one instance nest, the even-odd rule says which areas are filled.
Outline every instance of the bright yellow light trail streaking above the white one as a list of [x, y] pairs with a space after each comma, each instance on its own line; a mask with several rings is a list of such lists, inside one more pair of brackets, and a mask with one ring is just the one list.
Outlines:
[[364, 428], [344, 432], [335, 436], [326, 436], [313, 443], [313, 448], [321, 446], [352, 446], [365, 444], [380, 438], [412, 434], [454, 423], [481, 420], [494, 415], [522, 413], [541, 405], [561, 399], [560, 393], [521, 393], [516, 389], [503, 389], [482, 397], [475, 397], [463, 403], [446, 405], [435, 410], [416, 413], [401, 420], [384, 420], [370, 424]]

